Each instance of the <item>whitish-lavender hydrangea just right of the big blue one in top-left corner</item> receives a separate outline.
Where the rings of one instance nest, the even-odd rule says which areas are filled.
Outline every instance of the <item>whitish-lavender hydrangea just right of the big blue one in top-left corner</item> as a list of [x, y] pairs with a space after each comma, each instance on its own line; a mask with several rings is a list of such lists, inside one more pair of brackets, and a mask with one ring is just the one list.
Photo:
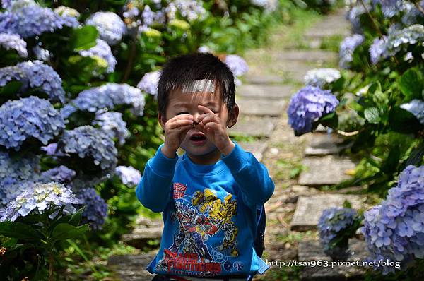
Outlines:
[[100, 39], [105, 40], [107, 44], [117, 44], [121, 41], [126, 32], [126, 25], [121, 18], [112, 12], [93, 13], [86, 20], [86, 25], [94, 25], [97, 28]]

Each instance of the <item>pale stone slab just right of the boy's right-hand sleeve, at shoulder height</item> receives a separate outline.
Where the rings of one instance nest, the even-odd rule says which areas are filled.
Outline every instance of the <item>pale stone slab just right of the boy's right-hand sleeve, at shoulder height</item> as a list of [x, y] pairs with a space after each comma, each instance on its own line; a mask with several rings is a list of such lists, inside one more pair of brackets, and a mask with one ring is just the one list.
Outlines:
[[302, 186], [339, 184], [341, 181], [351, 178], [349, 173], [356, 166], [350, 158], [336, 155], [305, 157], [302, 165], [305, 169], [300, 173], [298, 181], [298, 184]]

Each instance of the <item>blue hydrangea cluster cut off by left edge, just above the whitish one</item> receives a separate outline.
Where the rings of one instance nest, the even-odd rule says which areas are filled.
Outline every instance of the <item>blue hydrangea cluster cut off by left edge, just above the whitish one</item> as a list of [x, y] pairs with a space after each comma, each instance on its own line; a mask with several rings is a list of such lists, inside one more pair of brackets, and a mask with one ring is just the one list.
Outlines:
[[40, 159], [35, 155], [13, 159], [0, 151], [0, 205], [13, 201], [22, 191], [39, 181]]

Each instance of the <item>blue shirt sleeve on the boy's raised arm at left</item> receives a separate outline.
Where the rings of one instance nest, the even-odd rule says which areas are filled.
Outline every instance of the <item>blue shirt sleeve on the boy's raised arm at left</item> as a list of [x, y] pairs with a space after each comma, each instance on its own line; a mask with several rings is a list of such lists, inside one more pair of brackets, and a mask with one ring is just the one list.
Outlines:
[[172, 179], [178, 155], [168, 158], [163, 155], [160, 148], [155, 156], [149, 159], [144, 168], [143, 176], [136, 187], [136, 196], [144, 207], [153, 212], [163, 212], [170, 201]]

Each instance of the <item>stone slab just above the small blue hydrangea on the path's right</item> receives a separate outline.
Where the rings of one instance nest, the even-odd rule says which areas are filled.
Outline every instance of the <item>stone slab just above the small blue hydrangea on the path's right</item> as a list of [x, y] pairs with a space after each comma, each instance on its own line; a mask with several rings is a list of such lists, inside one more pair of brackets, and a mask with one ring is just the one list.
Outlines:
[[364, 196], [352, 194], [325, 193], [311, 196], [299, 196], [290, 229], [307, 231], [316, 229], [322, 211], [331, 207], [343, 207], [349, 201], [353, 209], [359, 209], [365, 201]]

